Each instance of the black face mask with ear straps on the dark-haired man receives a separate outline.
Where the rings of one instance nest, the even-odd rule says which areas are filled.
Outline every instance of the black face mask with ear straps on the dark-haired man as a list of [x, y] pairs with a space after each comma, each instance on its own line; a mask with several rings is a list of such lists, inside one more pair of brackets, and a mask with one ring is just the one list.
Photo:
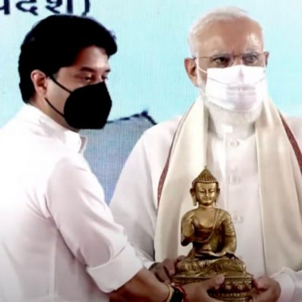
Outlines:
[[57, 110], [45, 98], [53, 110], [62, 115], [75, 129], [102, 129], [108, 119], [112, 101], [105, 82], [87, 85], [70, 91], [50, 76], [59, 87], [70, 93], [64, 105], [64, 113]]

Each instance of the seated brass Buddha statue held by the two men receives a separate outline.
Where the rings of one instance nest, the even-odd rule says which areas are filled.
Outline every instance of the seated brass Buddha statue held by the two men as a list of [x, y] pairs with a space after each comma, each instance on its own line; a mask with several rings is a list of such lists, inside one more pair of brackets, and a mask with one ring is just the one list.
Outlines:
[[224, 275], [219, 290], [210, 295], [224, 301], [248, 301], [252, 275], [235, 255], [236, 234], [230, 214], [216, 207], [220, 188], [216, 178], [205, 168], [190, 189], [196, 207], [181, 221], [181, 244], [192, 243], [187, 257], [176, 265], [176, 284], [186, 284]]

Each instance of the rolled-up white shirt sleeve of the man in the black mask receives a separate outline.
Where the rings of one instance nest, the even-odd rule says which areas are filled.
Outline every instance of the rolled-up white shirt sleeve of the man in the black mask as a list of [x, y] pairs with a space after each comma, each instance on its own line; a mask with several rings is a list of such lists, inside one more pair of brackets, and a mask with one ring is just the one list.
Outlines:
[[116, 290], [143, 267], [82, 156], [57, 163], [48, 182], [46, 206], [66, 245], [101, 291]]

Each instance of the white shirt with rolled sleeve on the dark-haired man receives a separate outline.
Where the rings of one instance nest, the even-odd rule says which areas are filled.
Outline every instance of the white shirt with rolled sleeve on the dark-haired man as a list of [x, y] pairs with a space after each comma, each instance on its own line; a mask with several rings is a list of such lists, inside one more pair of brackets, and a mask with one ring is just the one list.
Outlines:
[[143, 265], [82, 156], [85, 138], [26, 105], [0, 141], [0, 300], [108, 301]]

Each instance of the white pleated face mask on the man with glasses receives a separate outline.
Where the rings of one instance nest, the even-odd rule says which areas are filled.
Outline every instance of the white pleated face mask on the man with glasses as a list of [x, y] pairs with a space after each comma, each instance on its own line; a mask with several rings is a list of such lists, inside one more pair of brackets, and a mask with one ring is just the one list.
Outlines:
[[204, 85], [198, 75], [198, 85], [207, 101], [230, 111], [248, 112], [259, 107], [268, 96], [265, 68], [236, 65], [209, 68]]

